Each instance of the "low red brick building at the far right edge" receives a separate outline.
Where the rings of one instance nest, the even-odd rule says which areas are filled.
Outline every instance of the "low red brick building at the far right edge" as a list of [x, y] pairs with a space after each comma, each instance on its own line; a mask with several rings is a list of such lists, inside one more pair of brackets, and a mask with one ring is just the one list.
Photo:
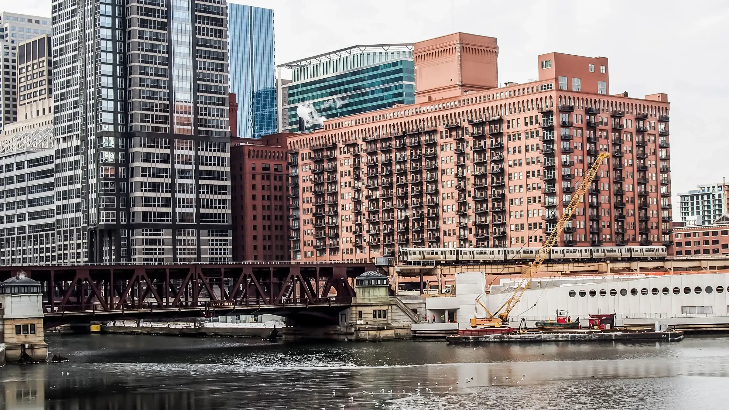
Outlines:
[[729, 214], [711, 225], [674, 228], [674, 255], [729, 255]]

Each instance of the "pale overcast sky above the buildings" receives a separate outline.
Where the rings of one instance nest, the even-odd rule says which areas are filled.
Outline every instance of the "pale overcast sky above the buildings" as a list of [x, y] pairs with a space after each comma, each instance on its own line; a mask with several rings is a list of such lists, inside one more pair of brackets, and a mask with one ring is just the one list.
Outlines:
[[[234, 2], [274, 10], [276, 63], [453, 31], [498, 39], [502, 83], [536, 78], [543, 53], [607, 57], [610, 93], [668, 93], [674, 193], [729, 179], [729, 1]], [[4, 1], [4, 7], [50, 16], [50, 0]]]

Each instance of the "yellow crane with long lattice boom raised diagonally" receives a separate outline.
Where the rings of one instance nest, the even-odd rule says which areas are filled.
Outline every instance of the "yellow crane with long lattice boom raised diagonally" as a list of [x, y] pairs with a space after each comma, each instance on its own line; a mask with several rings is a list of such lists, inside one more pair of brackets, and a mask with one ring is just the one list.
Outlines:
[[511, 297], [507, 299], [507, 301], [502, 303], [502, 305], [499, 306], [499, 308], [496, 309], [494, 313], [489, 312], [488, 309], [486, 309], [486, 306], [484, 306], [484, 304], [480, 301], [481, 296], [485, 295], [485, 293], [481, 293], [477, 296], [476, 303], [477, 305], [480, 305], [486, 312], [486, 317], [474, 317], [473, 319], [471, 319], [471, 326], [500, 326], [502, 325], [502, 323], [509, 322], [509, 313], [511, 312], [511, 309], [514, 309], [516, 303], [518, 303], [526, 289], [529, 287], [529, 285], [531, 285], [531, 279], [534, 279], [534, 275], [536, 275], [537, 271], [539, 271], [539, 267], [542, 266], [542, 263], [544, 263], [544, 261], [549, 256], [549, 251], [555, 244], [557, 244], [559, 236], [562, 234], [562, 231], [564, 231], [564, 227], [567, 221], [570, 217], [572, 217], [574, 209], [577, 209], [577, 205], [580, 204], [580, 198], [585, 196], [585, 193], [588, 191], [590, 184], [593, 182], [593, 179], [595, 179], [600, 164], [603, 160], [609, 157], [610, 154], [608, 152], [600, 152], [597, 155], [595, 162], [592, 164], [592, 166], [590, 166], [590, 169], [588, 169], [587, 173], [585, 173], [585, 177], [582, 178], [580, 186], [577, 187], [577, 191], [572, 196], [572, 201], [569, 201], [569, 205], [566, 207], [564, 213], [557, 221], [557, 225], [555, 225], [555, 228], [553, 229], [552, 233], [550, 233], [550, 236], [547, 237], [547, 240], [542, 245], [542, 249], [540, 249], [539, 253], [537, 253], [537, 255], [535, 256], [534, 262], [531, 263], [529, 269], [521, 274], [521, 278], [518, 282], [518, 285], [516, 285], [514, 289], [513, 295], [511, 295]]

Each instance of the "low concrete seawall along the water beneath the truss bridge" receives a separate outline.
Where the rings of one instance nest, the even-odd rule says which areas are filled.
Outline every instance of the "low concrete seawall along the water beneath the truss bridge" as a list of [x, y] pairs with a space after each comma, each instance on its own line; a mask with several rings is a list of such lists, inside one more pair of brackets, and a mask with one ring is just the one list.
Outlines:
[[[101, 333], [125, 335], [162, 336], [223, 336], [223, 337], [268, 337], [273, 328], [164, 328], [161, 326], [108, 326], [101, 325]], [[279, 329], [280, 330], [280, 329]]]

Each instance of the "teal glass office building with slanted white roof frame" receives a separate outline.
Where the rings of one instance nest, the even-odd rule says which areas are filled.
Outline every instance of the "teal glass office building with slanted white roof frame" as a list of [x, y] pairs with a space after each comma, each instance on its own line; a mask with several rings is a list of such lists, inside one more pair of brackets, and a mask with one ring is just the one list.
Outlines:
[[415, 102], [412, 45], [355, 46], [279, 67], [292, 70], [284, 109], [289, 127], [284, 131], [321, 127], [300, 121], [300, 104], [332, 119]]

